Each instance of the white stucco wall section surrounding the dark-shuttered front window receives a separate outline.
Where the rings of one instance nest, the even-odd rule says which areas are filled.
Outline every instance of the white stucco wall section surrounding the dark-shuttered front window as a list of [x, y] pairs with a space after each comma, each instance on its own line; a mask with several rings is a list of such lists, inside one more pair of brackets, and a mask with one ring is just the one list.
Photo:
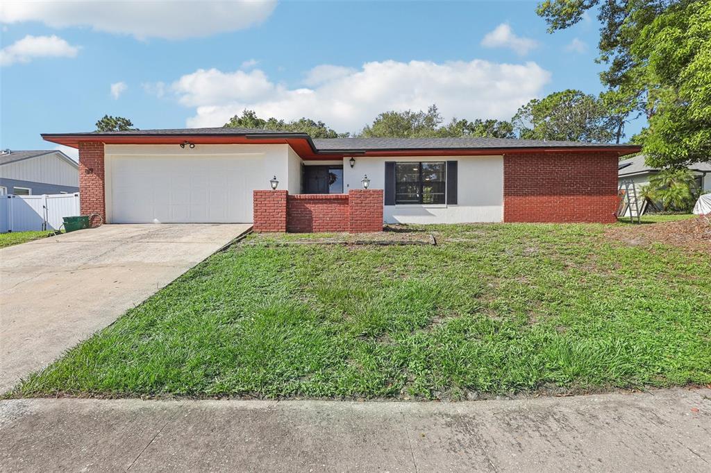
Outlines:
[[457, 161], [457, 205], [386, 205], [386, 223], [467, 223], [503, 220], [503, 156], [410, 156], [343, 158], [343, 192], [360, 189], [368, 175], [371, 189], [385, 188], [385, 162]]

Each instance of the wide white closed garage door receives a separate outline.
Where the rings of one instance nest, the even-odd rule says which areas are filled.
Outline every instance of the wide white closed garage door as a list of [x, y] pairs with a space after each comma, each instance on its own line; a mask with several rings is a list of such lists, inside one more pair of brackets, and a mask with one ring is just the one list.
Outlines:
[[113, 156], [110, 162], [112, 223], [252, 222], [261, 158]]

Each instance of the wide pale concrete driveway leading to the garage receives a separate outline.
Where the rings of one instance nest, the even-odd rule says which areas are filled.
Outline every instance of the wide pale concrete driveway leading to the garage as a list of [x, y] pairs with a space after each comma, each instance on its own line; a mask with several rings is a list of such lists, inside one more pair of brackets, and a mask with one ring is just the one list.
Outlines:
[[0, 250], [0, 393], [247, 232], [103, 225]]

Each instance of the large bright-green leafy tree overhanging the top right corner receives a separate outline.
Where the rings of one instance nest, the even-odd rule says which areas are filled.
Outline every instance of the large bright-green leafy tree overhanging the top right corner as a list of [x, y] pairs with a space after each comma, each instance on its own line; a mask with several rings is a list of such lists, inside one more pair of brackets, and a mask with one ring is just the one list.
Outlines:
[[601, 80], [619, 112], [643, 112], [654, 166], [711, 161], [711, 4], [707, 0], [545, 0], [549, 31], [598, 9]]

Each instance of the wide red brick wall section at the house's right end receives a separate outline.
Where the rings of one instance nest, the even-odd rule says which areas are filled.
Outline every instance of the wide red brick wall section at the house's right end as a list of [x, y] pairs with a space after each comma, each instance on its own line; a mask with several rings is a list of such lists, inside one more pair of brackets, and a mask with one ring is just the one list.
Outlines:
[[503, 158], [504, 222], [616, 222], [616, 153]]

